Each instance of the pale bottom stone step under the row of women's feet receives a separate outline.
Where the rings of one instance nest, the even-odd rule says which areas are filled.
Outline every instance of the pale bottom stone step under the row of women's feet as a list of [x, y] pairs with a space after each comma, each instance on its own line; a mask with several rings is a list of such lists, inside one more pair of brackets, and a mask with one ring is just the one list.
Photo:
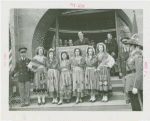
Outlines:
[[[84, 110], [83, 110], [84, 109]], [[130, 104], [126, 104], [124, 100], [110, 100], [108, 102], [97, 101], [94, 103], [83, 102], [75, 104], [75, 102], [63, 103], [62, 105], [51, 104], [50, 102], [45, 105], [37, 105], [37, 102], [33, 102], [28, 107], [20, 107], [18, 105], [12, 105], [10, 110], [57, 110], [57, 111], [66, 111], [66, 110], [83, 110], [83, 111], [131, 111]]]

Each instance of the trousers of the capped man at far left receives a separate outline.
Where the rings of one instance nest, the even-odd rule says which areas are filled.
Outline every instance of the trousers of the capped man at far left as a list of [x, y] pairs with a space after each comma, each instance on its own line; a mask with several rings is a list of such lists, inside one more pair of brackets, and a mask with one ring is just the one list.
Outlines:
[[30, 103], [30, 82], [19, 82], [19, 93], [21, 98], [21, 103]]

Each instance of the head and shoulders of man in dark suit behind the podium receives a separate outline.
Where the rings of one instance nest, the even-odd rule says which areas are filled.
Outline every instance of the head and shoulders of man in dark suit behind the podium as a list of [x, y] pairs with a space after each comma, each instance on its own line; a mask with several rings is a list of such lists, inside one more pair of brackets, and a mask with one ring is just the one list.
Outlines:
[[78, 37], [79, 37], [79, 39], [74, 42], [74, 46], [90, 45], [89, 39], [84, 37], [84, 34], [82, 31], [78, 32]]

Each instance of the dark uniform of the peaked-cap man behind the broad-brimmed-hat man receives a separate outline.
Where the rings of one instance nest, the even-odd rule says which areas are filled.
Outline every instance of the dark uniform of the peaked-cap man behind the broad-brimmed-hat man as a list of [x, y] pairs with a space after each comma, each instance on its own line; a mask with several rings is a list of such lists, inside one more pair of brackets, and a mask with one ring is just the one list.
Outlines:
[[120, 52], [118, 54], [118, 68], [119, 68], [119, 73], [122, 73], [123, 74], [123, 78], [122, 78], [122, 81], [123, 81], [123, 85], [124, 85], [124, 96], [125, 96], [125, 100], [129, 100], [129, 96], [128, 94], [126, 93], [126, 90], [125, 90], [125, 76], [126, 76], [126, 72], [127, 72], [127, 69], [126, 69], [126, 62], [129, 58], [129, 52], [125, 52], [124, 50], [122, 52]]

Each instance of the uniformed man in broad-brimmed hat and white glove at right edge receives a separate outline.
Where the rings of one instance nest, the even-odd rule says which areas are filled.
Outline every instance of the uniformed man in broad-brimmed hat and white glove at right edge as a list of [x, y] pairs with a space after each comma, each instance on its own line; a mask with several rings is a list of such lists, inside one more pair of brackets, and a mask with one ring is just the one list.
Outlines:
[[129, 72], [126, 76], [126, 91], [129, 94], [133, 111], [143, 109], [143, 58], [142, 53], [136, 50], [139, 46], [137, 40], [132, 37], [124, 42], [130, 47], [130, 55], [127, 60]]

